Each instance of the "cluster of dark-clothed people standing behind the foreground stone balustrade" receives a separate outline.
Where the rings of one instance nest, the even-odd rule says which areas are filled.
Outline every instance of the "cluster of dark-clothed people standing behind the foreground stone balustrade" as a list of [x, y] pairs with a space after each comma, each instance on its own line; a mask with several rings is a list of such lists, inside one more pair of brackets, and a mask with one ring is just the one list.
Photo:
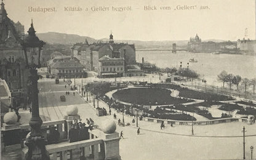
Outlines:
[[74, 123], [71, 125], [71, 129], [68, 131], [70, 143], [78, 142], [80, 140], [89, 140], [89, 129], [92, 130], [94, 125], [94, 121], [89, 118], [86, 119], [86, 123], [82, 123], [81, 119], [78, 122], [78, 119], [74, 119]]

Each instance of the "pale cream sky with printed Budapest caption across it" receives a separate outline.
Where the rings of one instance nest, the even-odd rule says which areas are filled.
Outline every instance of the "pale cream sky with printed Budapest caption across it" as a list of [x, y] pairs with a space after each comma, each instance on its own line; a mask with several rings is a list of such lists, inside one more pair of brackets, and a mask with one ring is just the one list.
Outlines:
[[[4, 3], [9, 18], [25, 25], [25, 31], [33, 18], [37, 33], [102, 39], [112, 32], [114, 39], [142, 41], [188, 40], [196, 33], [202, 40], [255, 39], [255, 0], [4, 0]], [[156, 10], [146, 10], [148, 6]], [[80, 7], [82, 11], [65, 11], [65, 7], [66, 10]], [[113, 7], [126, 10], [116, 11]], [[55, 12], [30, 12], [29, 8], [50, 8], [49, 11], [55, 9]]]

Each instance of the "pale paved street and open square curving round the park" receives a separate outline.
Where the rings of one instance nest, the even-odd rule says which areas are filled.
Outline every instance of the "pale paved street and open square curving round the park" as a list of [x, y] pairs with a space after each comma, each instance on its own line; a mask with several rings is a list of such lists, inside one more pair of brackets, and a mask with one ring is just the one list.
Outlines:
[[[41, 79], [38, 84], [40, 114], [44, 121], [62, 119], [66, 108], [70, 105], [78, 106], [82, 121], [86, 118], [94, 119], [100, 125], [106, 119], [113, 119], [112, 115], [98, 117], [94, 107], [87, 103], [76, 92], [65, 95], [65, 82], [55, 84], [54, 79]], [[66, 96], [66, 102], [60, 102], [60, 95]], [[84, 98], [85, 99], [85, 98]], [[97, 104], [97, 103], [96, 103]], [[100, 107], [108, 106], [100, 102]], [[20, 114], [28, 113], [22, 111]], [[116, 113], [122, 119], [121, 113]], [[26, 116], [29, 119], [30, 116]], [[23, 117], [22, 117], [23, 118]], [[133, 117], [125, 116], [126, 123], [132, 124]], [[246, 158], [250, 158], [251, 145], [256, 144], [256, 124], [248, 125], [242, 122], [215, 124], [209, 126], [194, 126], [194, 136], [191, 136], [191, 126], [174, 126], [166, 124], [160, 129], [155, 122], [139, 121], [141, 134], [137, 135], [135, 124], [127, 127], [118, 126], [116, 131], [124, 133], [120, 140], [120, 155], [122, 159], [241, 159], [242, 158], [242, 127], [246, 127]]]

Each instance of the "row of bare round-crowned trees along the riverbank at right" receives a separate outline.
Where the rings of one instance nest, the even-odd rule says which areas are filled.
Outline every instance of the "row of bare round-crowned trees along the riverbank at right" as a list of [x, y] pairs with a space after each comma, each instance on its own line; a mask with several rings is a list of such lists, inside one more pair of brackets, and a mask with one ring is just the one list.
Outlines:
[[231, 89], [232, 84], [236, 85], [236, 87], [238, 89], [238, 86], [241, 83], [245, 87], [245, 92], [247, 90], [247, 87], [252, 85], [254, 87], [254, 94], [255, 94], [256, 78], [253, 78], [253, 79], [241, 78], [241, 76], [239, 76], [239, 75], [234, 76], [231, 73], [222, 71], [220, 74], [218, 74], [217, 80], [220, 82], [223, 82], [223, 87], [224, 87], [225, 82], [228, 83], [230, 86], [230, 89]]

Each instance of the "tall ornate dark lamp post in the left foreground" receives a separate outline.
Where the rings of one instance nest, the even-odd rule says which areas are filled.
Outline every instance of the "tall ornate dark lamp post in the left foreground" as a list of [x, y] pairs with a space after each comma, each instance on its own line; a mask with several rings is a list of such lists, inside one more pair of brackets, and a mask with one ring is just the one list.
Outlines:
[[36, 36], [33, 21], [28, 30], [28, 36], [22, 41], [22, 47], [25, 54], [26, 67], [30, 70], [29, 85], [30, 85], [30, 99], [32, 102], [32, 117], [30, 119], [31, 133], [26, 138], [26, 145], [28, 146], [28, 153], [25, 155], [26, 160], [43, 159], [48, 160], [49, 153], [46, 151], [46, 141], [41, 134], [42, 119], [39, 116], [38, 104], [38, 71], [40, 68], [40, 54], [45, 42], [40, 41]]

